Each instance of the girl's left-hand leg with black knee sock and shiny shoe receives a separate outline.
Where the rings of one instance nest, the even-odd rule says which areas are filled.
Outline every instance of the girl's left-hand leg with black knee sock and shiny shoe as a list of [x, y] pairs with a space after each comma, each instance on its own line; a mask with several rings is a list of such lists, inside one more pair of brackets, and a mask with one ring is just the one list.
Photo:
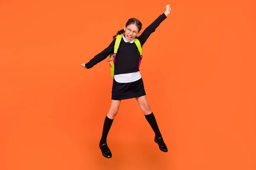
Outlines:
[[108, 132], [111, 128], [111, 125], [113, 123], [113, 119], [115, 118], [115, 116], [118, 112], [120, 103], [121, 103], [121, 100], [112, 100], [108, 114], [105, 117], [103, 130], [102, 130], [102, 137], [99, 142], [99, 147], [102, 151], [102, 155], [105, 156], [106, 158], [112, 157], [111, 151], [107, 145], [107, 136], [108, 136]]

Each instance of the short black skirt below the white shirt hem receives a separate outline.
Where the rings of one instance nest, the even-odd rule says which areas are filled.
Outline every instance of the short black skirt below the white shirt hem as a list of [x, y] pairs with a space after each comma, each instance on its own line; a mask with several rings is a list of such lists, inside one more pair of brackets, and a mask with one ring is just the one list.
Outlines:
[[119, 83], [113, 79], [112, 100], [124, 100], [145, 96], [145, 89], [142, 78], [135, 82]]

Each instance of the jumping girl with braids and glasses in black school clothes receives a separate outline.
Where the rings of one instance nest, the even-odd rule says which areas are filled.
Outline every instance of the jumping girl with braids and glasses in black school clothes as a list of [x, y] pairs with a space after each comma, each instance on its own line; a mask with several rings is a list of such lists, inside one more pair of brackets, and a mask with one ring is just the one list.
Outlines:
[[157, 19], [154, 20], [154, 22], [151, 23], [147, 28], [145, 28], [143, 33], [138, 37], [137, 35], [142, 29], [142, 23], [136, 18], [129, 19], [124, 28], [118, 31], [115, 36], [113, 36], [113, 41], [107, 48], [90, 59], [89, 62], [81, 64], [84, 68], [89, 69], [102, 60], [106, 59], [110, 54], [113, 54], [116, 36], [122, 34], [122, 40], [119, 44], [114, 63], [111, 106], [105, 117], [102, 137], [99, 142], [99, 148], [102, 152], [102, 155], [106, 158], [112, 157], [111, 150], [107, 145], [107, 136], [113, 123], [113, 119], [119, 110], [121, 100], [131, 98], [135, 98], [137, 100], [141, 110], [145, 115], [145, 119], [154, 130], [154, 142], [158, 144], [161, 151], [168, 151], [157, 125], [155, 116], [151, 111], [146, 98], [143, 79], [140, 75], [138, 66], [140, 52], [138, 51], [137, 45], [134, 43], [134, 39], [137, 38], [140, 41], [141, 47], [143, 47], [148, 37], [156, 30], [160, 23], [162, 23], [163, 20], [167, 18], [167, 16], [170, 14], [170, 11], [170, 5], [167, 5], [165, 7], [165, 12], [157, 17]]

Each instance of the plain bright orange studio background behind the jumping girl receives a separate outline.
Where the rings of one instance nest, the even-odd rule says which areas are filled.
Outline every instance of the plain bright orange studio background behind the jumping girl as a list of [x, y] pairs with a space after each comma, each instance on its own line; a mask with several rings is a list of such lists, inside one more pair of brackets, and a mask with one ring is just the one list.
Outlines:
[[[141, 74], [169, 152], [135, 99], [121, 102], [105, 159], [111, 103], [106, 48], [131, 17], [143, 30]], [[1, 170], [255, 170], [253, 0], [0, 1]], [[142, 30], [142, 31], [143, 31]]]

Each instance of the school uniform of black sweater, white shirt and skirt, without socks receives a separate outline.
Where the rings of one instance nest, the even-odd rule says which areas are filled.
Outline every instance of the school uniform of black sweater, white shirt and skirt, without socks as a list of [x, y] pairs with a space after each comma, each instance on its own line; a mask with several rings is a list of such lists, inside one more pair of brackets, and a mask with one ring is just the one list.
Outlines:
[[[151, 23], [143, 33], [136, 37], [141, 44], [145, 44], [148, 37], [167, 17], [163, 13], [153, 23]], [[101, 53], [97, 54], [93, 59], [85, 64], [87, 69], [92, 68], [97, 63], [106, 59], [114, 52], [116, 38]], [[143, 79], [140, 75], [139, 66], [140, 52], [134, 40], [128, 42], [123, 34], [118, 51], [116, 53], [115, 70], [112, 85], [112, 100], [131, 99], [135, 97], [145, 96], [145, 88]]]

